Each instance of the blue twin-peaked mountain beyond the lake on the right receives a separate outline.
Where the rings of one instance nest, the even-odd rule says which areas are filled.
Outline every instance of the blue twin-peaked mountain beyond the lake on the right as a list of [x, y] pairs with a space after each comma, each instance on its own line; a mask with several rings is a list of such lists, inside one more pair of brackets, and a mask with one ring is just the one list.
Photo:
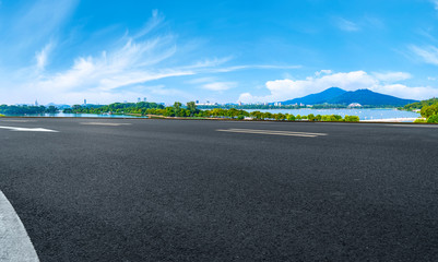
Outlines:
[[415, 102], [417, 100], [402, 99], [395, 96], [376, 93], [370, 90], [347, 92], [339, 87], [330, 87], [321, 93], [283, 102], [282, 105], [294, 105], [300, 103], [305, 105], [350, 105], [352, 103], [358, 103], [363, 106], [404, 106]]

